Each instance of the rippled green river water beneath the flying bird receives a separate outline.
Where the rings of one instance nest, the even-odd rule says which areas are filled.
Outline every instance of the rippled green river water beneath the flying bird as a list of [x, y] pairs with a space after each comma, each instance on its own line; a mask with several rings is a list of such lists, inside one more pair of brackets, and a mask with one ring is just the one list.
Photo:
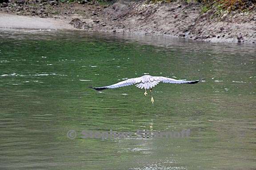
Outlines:
[[[88, 88], [145, 74], [204, 81], [159, 84], [154, 105], [135, 86]], [[253, 44], [0, 32], [0, 169], [254, 170], [255, 92]], [[189, 136], [137, 134], [183, 130]], [[132, 136], [84, 139], [82, 131]]]

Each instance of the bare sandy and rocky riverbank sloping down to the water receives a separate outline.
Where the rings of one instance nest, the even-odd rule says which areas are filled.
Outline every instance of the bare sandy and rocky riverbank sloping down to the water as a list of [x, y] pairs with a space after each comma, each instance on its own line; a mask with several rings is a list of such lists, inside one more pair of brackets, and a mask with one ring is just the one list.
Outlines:
[[[228, 12], [205, 8], [200, 3], [184, 1], [150, 3], [123, 0], [111, 5], [57, 1], [9, 3], [0, 8], [0, 27], [15, 25], [19, 28], [20, 25], [28, 29], [76, 29], [166, 35], [208, 42], [256, 43], [255, 10]], [[27, 15], [22, 16], [26, 21], [18, 15]], [[52, 28], [45, 28], [46, 23]]]

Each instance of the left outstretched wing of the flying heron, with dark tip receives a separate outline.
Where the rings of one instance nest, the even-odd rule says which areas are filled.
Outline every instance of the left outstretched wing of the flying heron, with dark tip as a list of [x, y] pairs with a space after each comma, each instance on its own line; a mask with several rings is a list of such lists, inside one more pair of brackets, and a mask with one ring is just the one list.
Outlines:
[[137, 77], [137, 78], [130, 78], [130, 79], [125, 80], [125, 81], [120, 81], [119, 83], [116, 83], [116, 84], [113, 84], [113, 85], [108, 85], [108, 86], [103, 86], [103, 87], [90, 87], [90, 88], [96, 89], [96, 90], [116, 89], [116, 88], [124, 87], [124, 86], [127, 86], [127, 85], [134, 85], [134, 84], [137, 84], [137, 83], [140, 83], [140, 82], [141, 82], [140, 77]]

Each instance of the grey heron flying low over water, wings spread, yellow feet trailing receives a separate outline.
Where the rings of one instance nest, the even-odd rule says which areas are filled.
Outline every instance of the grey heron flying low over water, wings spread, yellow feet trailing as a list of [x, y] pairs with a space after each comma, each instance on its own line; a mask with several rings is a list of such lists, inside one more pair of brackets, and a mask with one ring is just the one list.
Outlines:
[[147, 96], [147, 89], [150, 89], [151, 93], [151, 102], [154, 104], [154, 98], [152, 96], [152, 88], [155, 87], [160, 82], [163, 83], [172, 83], [172, 84], [196, 84], [200, 80], [196, 81], [184, 81], [184, 80], [175, 80], [173, 78], [168, 78], [168, 77], [161, 77], [161, 76], [150, 76], [150, 75], [144, 75], [141, 77], [137, 78], [130, 78], [125, 81], [120, 81], [119, 83], [113, 84], [113, 85], [108, 85], [108, 86], [103, 86], [103, 87], [91, 87], [92, 89], [96, 90], [104, 90], [104, 89], [116, 89], [119, 87], [127, 86], [127, 85], [134, 85], [140, 88], [140, 89], [145, 89], [144, 95]]

